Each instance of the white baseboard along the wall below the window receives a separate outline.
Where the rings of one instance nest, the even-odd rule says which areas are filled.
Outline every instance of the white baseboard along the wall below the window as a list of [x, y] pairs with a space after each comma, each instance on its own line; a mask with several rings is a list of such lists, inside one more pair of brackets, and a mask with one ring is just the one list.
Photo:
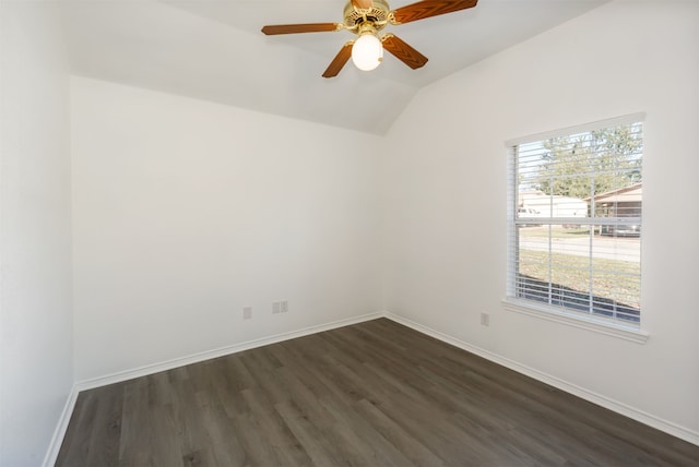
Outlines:
[[406, 318], [399, 316], [388, 311], [383, 312], [383, 316], [388, 318], [389, 320], [395, 321], [399, 324], [403, 324], [407, 327], [411, 327], [419, 333], [435, 337], [436, 339], [439, 339], [447, 344], [451, 344], [454, 347], [459, 347], [463, 350], [475, 354], [495, 363], [501, 364], [502, 367], [509, 368], [510, 370], [514, 370], [518, 373], [525, 374], [530, 378], [533, 378], [534, 380], [538, 380], [543, 383], [549, 384], [558, 390], [565, 391], [582, 399], [596, 404], [606, 409], [613, 410], [617, 414], [631, 418], [636, 421], [640, 421], [641, 423], [648, 424], [649, 427], [653, 427], [660, 431], [664, 431], [667, 434], [672, 434], [673, 436], [679, 438], [680, 440], [687, 441], [689, 443], [692, 443], [699, 446], [699, 432], [678, 426], [671, 421], [664, 420], [660, 417], [648, 414], [643, 410], [639, 410], [637, 408], [630, 407], [626, 404], [611, 399], [595, 392], [585, 390], [584, 387], [580, 387], [576, 384], [571, 384], [567, 381], [560, 380], [550, 374], [544, 373], [542, 371], [521, 364], [517, 361], [501, 357], [497, 354], [473, 346], [463, 340], [459, 340], [455, 337], [440, 333], [439, 331], [435, 331], [430, 327], [424, 326]]

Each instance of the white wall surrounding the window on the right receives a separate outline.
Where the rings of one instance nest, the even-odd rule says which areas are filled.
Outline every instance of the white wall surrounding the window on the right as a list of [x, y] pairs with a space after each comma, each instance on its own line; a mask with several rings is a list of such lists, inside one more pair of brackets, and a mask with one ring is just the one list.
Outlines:
[[[699, 4], [623, 1], [423, 89], [387, 137], [387, 309], [699, 440], [697, 83]], [[638, 111], [650, 340], [505, 311], [503, 142]]]

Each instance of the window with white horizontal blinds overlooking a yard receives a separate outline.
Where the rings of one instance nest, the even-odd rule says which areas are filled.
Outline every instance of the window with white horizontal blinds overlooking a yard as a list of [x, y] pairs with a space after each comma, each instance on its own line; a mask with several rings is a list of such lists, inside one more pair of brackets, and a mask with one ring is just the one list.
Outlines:
[[642, 118], [508, 143], [508, 302], [639, 328]]

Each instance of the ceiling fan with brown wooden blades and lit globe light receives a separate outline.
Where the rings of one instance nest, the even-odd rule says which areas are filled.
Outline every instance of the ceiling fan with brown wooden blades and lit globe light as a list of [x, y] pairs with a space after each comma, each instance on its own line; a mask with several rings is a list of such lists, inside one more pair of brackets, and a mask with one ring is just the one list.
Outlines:
[[391, 10], [387, 0], [350, 0], [344, 9], [342, 23], [277, 24], [264, 26], [262, 32], [276, 35], [346, 29], [356, 34], [356, 39], [342, 46], [323, 77], [336, 76], [351, 57], [358, 69], [374, 70], [383, 60], [383, 49], [415, 70], [427, 63], [427, 57], [391, 33], [379, 37], [379, 31], [387, 24], [399, 25], [453, 13], [473, 8], [477, 2], [478, 0], [424, 0]]

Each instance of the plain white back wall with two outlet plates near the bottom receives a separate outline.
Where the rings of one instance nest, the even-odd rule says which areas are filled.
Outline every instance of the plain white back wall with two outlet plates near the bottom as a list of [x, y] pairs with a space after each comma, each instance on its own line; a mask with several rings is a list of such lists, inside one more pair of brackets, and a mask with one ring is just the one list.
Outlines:
[[76, 381], [381, 310], [378, 137], [71, 83]]

